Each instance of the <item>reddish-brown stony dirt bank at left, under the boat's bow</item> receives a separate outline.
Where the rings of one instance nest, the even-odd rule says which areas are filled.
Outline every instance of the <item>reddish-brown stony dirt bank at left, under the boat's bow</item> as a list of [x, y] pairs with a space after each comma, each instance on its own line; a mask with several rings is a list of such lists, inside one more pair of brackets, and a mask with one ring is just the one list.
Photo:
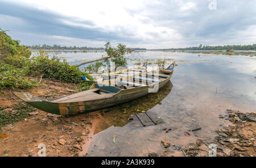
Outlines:
[[[28, 91], [53, 98], [72, 94], [75, 89], [75, 85], [46, 80]], [[13, 109], [15, 105], [20, 106], [20, 100], [11, 91], [5, 90], [0, 101], [3, 111], [15, 117], [20, 115]], [[34, 108], [27, 117], [20, 117], [20, 121], [1, 128], [0, 156], [37, 156], [39, 144], [46, 145], [46, 156], [84, 156], [86, 144], [100, 119], [99, 111], [64, 117]]]

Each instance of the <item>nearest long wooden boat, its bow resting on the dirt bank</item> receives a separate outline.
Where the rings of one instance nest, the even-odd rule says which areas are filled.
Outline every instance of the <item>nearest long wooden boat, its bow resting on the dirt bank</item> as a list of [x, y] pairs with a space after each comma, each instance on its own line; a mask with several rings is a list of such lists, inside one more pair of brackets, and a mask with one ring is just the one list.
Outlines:
[[[130, 71], [128, 69], [126, 72]], [[135, 69], [132, 71], [136, 72]], [[158, 72], [139, 70], [139, 73], [93, 83], [89, 90], [54, 99], [39, 98], [26, 92], [14, 92], [14, 95], [31, 106], [51, 114], [75, 115], [100, 110], [147, 95], [152, 92], [152, 89], [160, 89], [166, 85], [173, 73], [174, 64]]]

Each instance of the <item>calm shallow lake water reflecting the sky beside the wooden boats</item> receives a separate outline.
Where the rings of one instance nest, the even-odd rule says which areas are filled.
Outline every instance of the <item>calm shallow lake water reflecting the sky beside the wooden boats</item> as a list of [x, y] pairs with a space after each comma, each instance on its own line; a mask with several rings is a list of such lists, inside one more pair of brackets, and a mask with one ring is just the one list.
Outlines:
[[[94, 60], [104, 52], [55, 53], [71, 64]], [[182, 147], [201, 138], [211, 141], [217, 129], [229, 125], [218, 115], [227, 109], [256, 112], [256, 57], [146, 51], [129, 56], [129, 66], [147, 60], [155, 66], [166, 59], [175, 61], [174, 75], [158, 93], [102, 112], [103, 120], [92, 137], [87, 156], [147, 156], [164, 150], [161, 140]], [[164, 123], [133, 128], [127, 117], [135, 112], [154, 112]], [[199, 131], [185, 131], [193, 128]], [[171, 128], [166, 133], [164, 128]], [[115, 142], [113, 141], [115, 137]], [[173, 149], [168, 149], [173, 150]]]

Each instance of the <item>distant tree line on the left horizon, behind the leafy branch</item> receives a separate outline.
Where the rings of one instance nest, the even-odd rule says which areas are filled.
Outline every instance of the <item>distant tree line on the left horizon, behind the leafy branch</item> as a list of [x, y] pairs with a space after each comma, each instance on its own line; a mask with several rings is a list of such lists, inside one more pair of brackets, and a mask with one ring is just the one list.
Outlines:
[[[105, 50], [103, 47], [76, 47], [76, 46], [60, 46], [60, 45], [27, 45], [28, 49], [56, 49], [56, 50]], [[132, 48], [133, 50], [146, 50], [146, 48]]]

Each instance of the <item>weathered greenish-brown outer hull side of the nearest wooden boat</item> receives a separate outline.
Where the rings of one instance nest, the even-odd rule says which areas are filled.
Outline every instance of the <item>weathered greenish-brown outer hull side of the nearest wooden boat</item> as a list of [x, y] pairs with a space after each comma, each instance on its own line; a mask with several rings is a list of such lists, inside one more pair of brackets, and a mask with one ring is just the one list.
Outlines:
[[53, 103], [51, 100], [38, 98], [36, 96], [32, 96], [29, 93], [17, 93], [14, 92], [16, 96], [22, 99], [24, 102], [30, 104], [33, 107], [38, 108], [39, 110], [49, 112], [51, 114], [57, 115], [76, 115], [81, 112], [90, 112], [100, 110], [102, 108], [106, 108], [109, 106], [113, 106], [115, 104], [120, 104], [124, 102], [128, 102], [133, 99], [137, 99], [141, 96], [149, 94], [148, 89], [155, 87], [158, 85], [158, 89], [166, 85], [166, 83], [172, 77], [173, 71], [164, 71], [165, 74], [170, 74], [170, 77], [163, 79], [158, 83], [153, 83], [152, 85], [134, 87], [131, 89], [119, 89], [115, 86], [101, 86], [98, 83], [94, 83], [93, 87], [100, 88], [101, 90], [109, 91], [110, 93], [115, 93], [113, 96], [109, 98], [102, 98], [96, 100], [87, 100], [82, 102], [69, 102], [69, 103]]

